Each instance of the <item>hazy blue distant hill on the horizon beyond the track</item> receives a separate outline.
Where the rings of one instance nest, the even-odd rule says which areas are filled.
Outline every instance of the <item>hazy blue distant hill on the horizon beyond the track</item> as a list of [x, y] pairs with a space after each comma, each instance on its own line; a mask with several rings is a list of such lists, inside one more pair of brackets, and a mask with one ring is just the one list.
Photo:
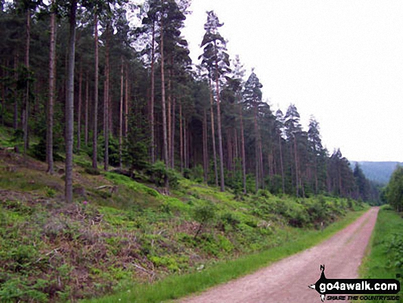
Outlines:
[[402, 162], [350, 161], [353, 169], [356, 162], [360, 164], [362, 172], [364, 172], [367, 179], [384, 184], [389, 182], [392, 172], [398, 164], [403, 166]]

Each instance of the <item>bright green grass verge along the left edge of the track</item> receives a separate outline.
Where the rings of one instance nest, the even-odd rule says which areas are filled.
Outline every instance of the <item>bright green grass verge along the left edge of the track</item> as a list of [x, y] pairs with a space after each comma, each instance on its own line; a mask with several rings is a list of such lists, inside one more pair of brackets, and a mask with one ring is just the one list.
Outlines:
[[252, 273], [270, 263], [308, 249], [329, 238], [362, 215], [364, 211], [349, 212], [340, 221], [333, 223], [322, 232], [310, 230], [303, 233], [298, 240], [285, 245], [267, 249], [257, 254], [244, 256], [236, 260], [219, 262], [203, 271], [174, 275], [153, 284], [135, 284], [127, 291], [116, 293], [105, 298], [84, 300], [82, 302], [161, 302], [182, 298], [191, 293], [203, 291], [214, 285]]

